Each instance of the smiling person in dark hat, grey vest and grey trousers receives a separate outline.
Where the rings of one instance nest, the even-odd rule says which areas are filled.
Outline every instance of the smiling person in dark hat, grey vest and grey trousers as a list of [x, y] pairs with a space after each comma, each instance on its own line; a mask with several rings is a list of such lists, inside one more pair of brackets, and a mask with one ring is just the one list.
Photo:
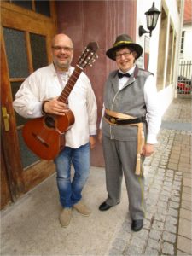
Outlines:
[[119, 35], [106, 52], [118, 69], [109, 74], [105, 84], [100, 133], [108, 198], [99, 210], [107, 211], [119, 204], [124, 174], [133, 231], [143, 228], [143, 160], [154, 153], [160, 130], [154, 75], [135, 64], [142, 53], [143, 48], [126, 34]]

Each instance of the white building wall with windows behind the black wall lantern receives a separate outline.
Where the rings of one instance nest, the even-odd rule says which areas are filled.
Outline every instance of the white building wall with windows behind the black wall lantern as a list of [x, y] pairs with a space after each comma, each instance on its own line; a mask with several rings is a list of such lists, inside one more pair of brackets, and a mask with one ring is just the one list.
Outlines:
[[[137, 0], [137, 28], [143, 25], [147, 30], [144, 13], [151, 8], [152, 3], [153, 1]], [[137, 32], [137, 43], [141, 44], [143, 49], [145, 38], [149, 38], [148, 70], [154, 73], [156, 79], [160, 102], [163, 102], [160, 106], [162, 114], [176, 96], [183, 3], [184, 1], [181, 1], [180, 7], [177, 7], [177, 1], [155, 0], [155, 7], [161, 11], [161, 14], [152, 37], [149, 38], [148, 34], [139, 37]], [[170, 59], [170, 53], [172, 53], [172, 59]]]

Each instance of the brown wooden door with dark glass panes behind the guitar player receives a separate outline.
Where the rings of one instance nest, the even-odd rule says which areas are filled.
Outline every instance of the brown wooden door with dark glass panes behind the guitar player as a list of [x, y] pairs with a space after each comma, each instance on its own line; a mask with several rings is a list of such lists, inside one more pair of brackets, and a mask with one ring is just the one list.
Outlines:
[[52, 161], [40, 160], [26, 148], [21, 131], [26, 119], [12, 102], [26, 77], [51, 62], [55, 35], [55, 1], [1, 2], [1, 208], [55, 172]]

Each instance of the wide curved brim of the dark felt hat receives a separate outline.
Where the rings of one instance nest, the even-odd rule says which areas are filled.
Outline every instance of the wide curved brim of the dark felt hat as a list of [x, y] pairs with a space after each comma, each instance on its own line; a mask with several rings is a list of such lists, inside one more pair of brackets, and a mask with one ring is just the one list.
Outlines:
[[108, 56], [109, 59], [115, 61], [115, 51], [119, 48], [122, 47], [130, 47], [132, 49], [134, 49], [137, 52], [137, 58], [136, 60], [142, 55], [143, 53], [143, 48], [141, 45], [139, 44], [135, 44], [135, 43], [123, 43], [123, 44], [119, 44], [117, 46], [113, 46], [112, 48], [108, 49], [106, 52], [106, 55]]

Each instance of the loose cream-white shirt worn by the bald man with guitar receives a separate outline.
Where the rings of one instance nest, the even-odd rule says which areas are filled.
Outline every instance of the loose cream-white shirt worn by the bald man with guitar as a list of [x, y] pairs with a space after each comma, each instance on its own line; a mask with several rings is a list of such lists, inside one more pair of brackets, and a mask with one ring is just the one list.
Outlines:
[[[69, 68], [69, 75], [74, 67]], [[67, 84], [66, 73], [61, 75], [63, 85]], [[15, 95], [13, 106], [15, 111], [25, 118], [42, 116], [42, 102], [61, 95], [61, 83], [55, 73], [55, 67], [50, 64], [39, 68], [21, 84]], [[68, 106], [72, 110], [75, 123], [66, 132], [66, 146], [79, 148], [88, 143], [90, 135], [96, 134], [97, 107], [96, 97], [92, 90], [90, 79], [82, 72], [73, 87]]]

